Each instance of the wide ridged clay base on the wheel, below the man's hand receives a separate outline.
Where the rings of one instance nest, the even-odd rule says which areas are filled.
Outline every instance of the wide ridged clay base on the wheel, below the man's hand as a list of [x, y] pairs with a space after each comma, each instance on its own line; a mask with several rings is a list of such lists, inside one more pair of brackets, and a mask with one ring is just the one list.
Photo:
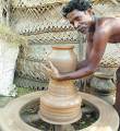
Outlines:
[[40, 97], [40, 118], [52, 124], [69, 124], [82, 117], [82, 98], [71, 81], [50, 81], [49, 90]]

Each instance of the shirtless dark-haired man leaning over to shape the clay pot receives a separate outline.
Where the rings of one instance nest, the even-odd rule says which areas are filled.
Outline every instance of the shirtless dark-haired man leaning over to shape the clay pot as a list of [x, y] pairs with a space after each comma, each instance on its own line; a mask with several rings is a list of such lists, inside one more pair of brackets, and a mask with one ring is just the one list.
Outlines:
[[[94, 73], [103, 58], [108, 43], [120, 43], [120, 17], [96, 19], [88, 0], [71, 0], [63, 7], [63, 16], [75, 29], [87, 37], [86, 58], [80, 62], [77, 70], [61, 74], [51, 64], [51, 78], [58, 81], [82, 79]], [[120, 115], [120, 68], [117, 70], [117, 94], [115, 108]]]

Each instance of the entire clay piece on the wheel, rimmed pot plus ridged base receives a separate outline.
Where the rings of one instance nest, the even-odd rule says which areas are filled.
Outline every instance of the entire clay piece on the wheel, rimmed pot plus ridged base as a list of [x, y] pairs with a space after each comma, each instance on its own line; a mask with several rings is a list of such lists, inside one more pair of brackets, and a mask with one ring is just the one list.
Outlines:
[[[76, 57], [73, 47], [52, 47], [50, 60], [60, 72], [75, 69]], [[50, 80], [46, 94], [40, 97], [39, 115], [43, 120], [53, 124], [69, 124], [82, 117], [82, 98], [73, 81]]]

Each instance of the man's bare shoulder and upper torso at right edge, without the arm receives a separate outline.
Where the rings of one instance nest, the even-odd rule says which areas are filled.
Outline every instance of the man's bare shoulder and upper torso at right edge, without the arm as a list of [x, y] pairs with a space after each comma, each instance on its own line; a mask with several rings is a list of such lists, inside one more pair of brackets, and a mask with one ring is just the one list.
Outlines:
[[96, 21], [94, 26], [95, 31], [91, 37], [99, 29], [104, 29], [109, 35], [108, 43], [120, 43], [120, 17], [101, 17]]

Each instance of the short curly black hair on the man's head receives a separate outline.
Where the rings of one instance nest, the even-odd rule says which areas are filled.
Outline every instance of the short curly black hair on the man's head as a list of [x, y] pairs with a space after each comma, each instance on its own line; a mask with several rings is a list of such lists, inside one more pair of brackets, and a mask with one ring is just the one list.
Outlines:
[[62, 8], [62, 15], [67, 17], [68, 13], [73, 10], [86, 11], [89, 8], [92, 8], [92, 2], [89, 0], [71, 0]]

